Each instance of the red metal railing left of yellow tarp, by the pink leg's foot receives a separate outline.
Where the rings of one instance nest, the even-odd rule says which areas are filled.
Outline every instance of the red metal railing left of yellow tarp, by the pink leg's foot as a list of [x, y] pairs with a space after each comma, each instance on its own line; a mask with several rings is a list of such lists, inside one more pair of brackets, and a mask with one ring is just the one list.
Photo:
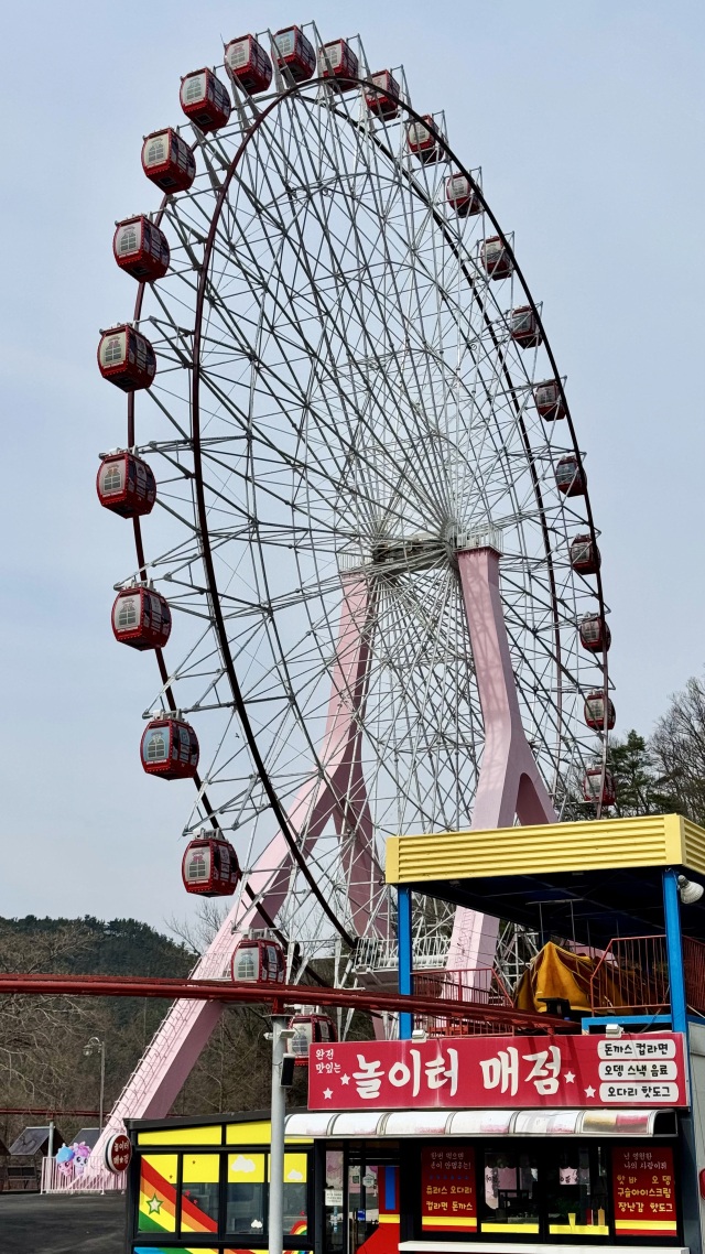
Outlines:
[[425, 971], [414, 976], [414, 993], [418, 997], [435, 997], [452, 1002], [462, 1013], [416, 1014], [414, 1023], [429, 1036], [513, 1036], [511, 1022], [488, 1023], [482, 1014], [474, 1018], [468, 1009], [477, 1006], [512, 1008], [508, 988], [492, 967], [473, 967], [467, 971]]

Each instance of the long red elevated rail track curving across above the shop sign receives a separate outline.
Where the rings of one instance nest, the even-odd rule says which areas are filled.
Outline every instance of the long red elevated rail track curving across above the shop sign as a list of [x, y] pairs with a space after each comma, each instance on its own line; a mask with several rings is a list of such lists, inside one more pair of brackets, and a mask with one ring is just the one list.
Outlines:
[[578, 1023], [556, 1018], [552, 1014], [516, 1011], [507, 1006], [484, 1006], [467, 1001], [453, 1002], [439, 997], [378, 993], [368, 988], [312, 988], [309, 984], [236, 983], [221, 979], [168, 979], [146, 976], [0, 976], [0, 996], [30, 994], [33, 997], [161, 997], [166, 1001], [188, 999], [199, 1002], [227, 1002], [246, 1004], [268, 1003], [272, 1013], [281, 1014], [289, 1006], [301, 1006], [304, 1001], [316, 1006], [341, 1006], [349, 1009], [380, 1013], [406, 1011], [411, 1014], [435, 1017], [467, 1017], [483, 1021], [488, 1026], [511, 1025], [526, 1032], [580, 1032]]

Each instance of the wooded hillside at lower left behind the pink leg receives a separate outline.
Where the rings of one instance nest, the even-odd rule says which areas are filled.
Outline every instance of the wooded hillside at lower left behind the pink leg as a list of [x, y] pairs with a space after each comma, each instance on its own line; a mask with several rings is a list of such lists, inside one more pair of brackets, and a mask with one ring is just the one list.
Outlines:
[[[137, 919], [0, 918], [0, 971], [107, 976], [187, 976], [196, 961]], [[85, 1057], [92, 1036], [105, 1041], [105, 1110], [119, 1095], [169, 1007], [152, 998], [0, 998], [0, 1107], [98, 1109], [99, 1056]], [[268, 1102], [270, 1047], [262, 1007], [223, 1013], [174, 1112], [247, 1110]], [[292, 1101], [305, 1101], [306, 1071], [297, 1068]], [[10, 1144], [25, 1126], [0, 1115]], [[83, 1121], [59, 1119], [70, 1137]]]

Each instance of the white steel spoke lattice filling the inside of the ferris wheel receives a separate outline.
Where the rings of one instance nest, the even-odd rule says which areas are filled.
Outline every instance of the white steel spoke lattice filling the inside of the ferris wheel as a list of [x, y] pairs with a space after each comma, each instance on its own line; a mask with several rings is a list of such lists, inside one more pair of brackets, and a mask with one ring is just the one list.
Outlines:
[[[568, 557], [588, 529], [586, 499], [556, 487], [571, 430], [536, 411], [532, 385], [552, 371], [544, 349], [511, 337], [527, 293], [516, 275], [488, 280], [485, 212], [455, 213], [449, 158], [418, 163], [405, 115], [373, 118], [360, 90], [278, 87], [258, 127], [270, 98], [256, 108], [242, 97], [215, 137], [194, 129], [196, 182], [164, 201], [172, 266], [144, 288], [139, 317], [158, 360], [135, 409], [137, 450], [158, 479], [144, 569], [174, 612], [168, 691], [202, 749], [184, 831], [207, 821], [207, 793], [250, 868], [277, 823], [215, 630], [199, 474], [228, 647], [271, 785], [336, 917], [384, 937], [386, 836], [462, 828], [473, 810], [483, 720], [458, 545], [488, 528], [502, 545], [522, 719], [558, 811], [595, 759], [582, 700], [602, 668], [577, 623], [601, 606]], [[197, 463], [194, 311], [215, 214]], [[152, 710], [168, 707], [166, 693]], [[342, 767], [330, 750], [335, 700], [352, 729]], [[311, 833], [326, 782], [336, 806]], [[324, 947], [330, 920], [297, 868], [285, 873], [277, 925]]]

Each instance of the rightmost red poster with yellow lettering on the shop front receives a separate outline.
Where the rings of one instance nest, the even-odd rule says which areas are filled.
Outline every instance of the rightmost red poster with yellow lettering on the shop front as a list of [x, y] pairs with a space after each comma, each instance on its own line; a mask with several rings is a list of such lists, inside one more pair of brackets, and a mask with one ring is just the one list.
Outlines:
[[674, 1151], [644, 1145], [612, 1150], [617, 1236], [675, 1236]]

